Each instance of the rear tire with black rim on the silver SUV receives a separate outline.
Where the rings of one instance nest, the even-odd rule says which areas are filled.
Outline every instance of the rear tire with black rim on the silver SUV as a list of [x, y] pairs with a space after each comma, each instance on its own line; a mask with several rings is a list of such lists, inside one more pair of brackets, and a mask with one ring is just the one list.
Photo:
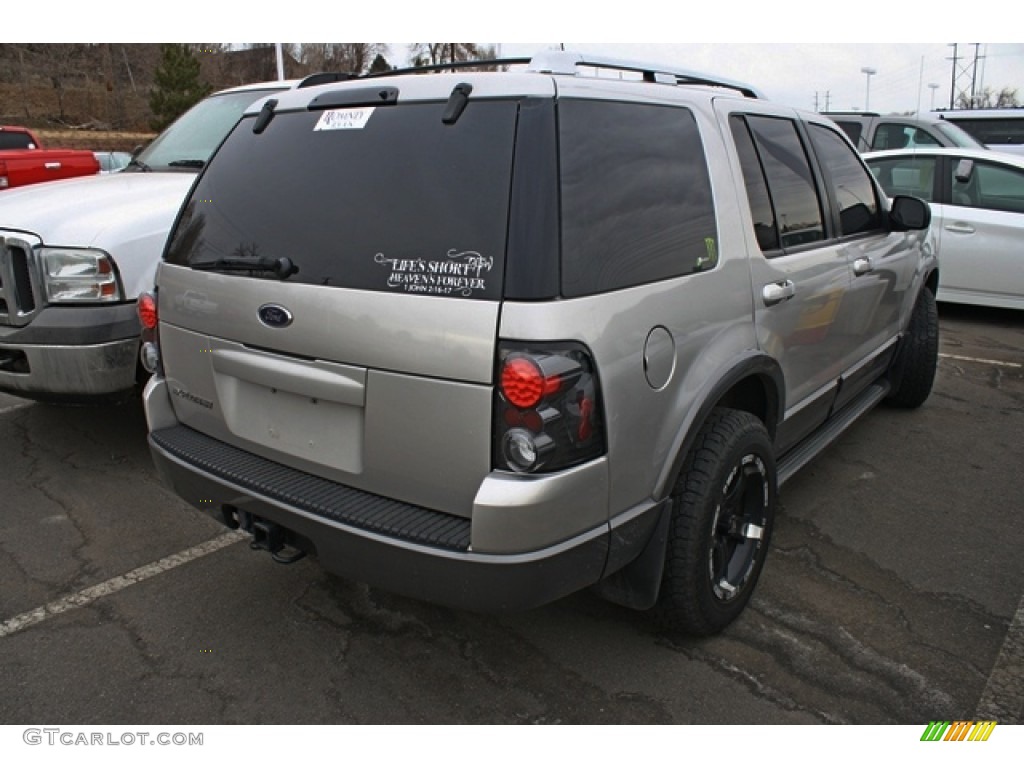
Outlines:
[[654, 607], [664, 629], [706, 637], [742, 612], [764, 566], [776, 496], [775, 459], [764, 425], [743, 411], [713, 411], [672, 495]]

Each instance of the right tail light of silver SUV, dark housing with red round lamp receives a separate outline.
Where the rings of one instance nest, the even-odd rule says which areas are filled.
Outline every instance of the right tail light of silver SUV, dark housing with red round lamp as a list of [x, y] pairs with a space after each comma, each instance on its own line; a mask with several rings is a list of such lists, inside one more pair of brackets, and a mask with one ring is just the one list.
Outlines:
[[496, 468], [555, 472], [604, 454], [600, 388], [584, 347], [503, 343], [497, 382]]

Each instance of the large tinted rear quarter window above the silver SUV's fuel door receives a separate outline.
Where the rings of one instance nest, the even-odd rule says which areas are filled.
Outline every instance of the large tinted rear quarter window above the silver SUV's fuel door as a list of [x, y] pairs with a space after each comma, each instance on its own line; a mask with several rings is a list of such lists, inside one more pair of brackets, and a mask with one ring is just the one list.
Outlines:
[[715, 266], [711, 175], [690, 111], [565, 99], [558, 120], [563, 295]]

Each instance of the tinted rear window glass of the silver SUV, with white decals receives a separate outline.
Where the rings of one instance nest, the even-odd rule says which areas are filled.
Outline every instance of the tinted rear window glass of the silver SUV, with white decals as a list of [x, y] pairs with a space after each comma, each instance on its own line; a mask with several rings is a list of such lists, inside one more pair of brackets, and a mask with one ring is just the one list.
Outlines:
[[[166, 260], [361, 290], [501, 297], [517, 104], [443, 102], [246, 118], [200, 178]], [[251, 268], [250, 268], [251, 265]]]

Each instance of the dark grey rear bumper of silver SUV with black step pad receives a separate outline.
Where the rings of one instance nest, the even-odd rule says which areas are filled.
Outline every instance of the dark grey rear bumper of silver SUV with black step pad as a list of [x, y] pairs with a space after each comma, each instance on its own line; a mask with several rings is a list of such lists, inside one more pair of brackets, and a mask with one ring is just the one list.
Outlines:
[[528, 552], [474, 552], [469, 519], [269, 462], [172, 423], [166, 413], [147, 416], [161, 478], [212, 518], [232, 527], [239, 517], [280, 526], [288, 544], [315, 554], [331, 572], [460, 609], [524, 610], [597, 584], [609, 562], [621, 567], [643, 550], [659, 512], [643, 506]]

